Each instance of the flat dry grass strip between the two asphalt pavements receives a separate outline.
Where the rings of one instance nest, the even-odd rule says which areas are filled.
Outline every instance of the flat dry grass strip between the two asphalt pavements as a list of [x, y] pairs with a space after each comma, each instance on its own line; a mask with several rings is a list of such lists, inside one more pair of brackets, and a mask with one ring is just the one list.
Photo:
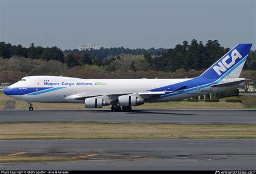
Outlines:
[[170, 123], [1, 123], [0, 140], [255, 138], [254, 125]]

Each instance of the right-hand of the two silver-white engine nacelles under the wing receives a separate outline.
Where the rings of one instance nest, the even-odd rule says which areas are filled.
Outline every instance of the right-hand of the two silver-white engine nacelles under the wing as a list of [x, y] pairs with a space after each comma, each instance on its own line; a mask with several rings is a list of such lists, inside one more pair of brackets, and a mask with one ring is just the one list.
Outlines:
[[138, 106], [144, 102], [142, 99], [137, 98], [137, 96], [121, 95], [118, 97], [118, 103], [120, 106]]

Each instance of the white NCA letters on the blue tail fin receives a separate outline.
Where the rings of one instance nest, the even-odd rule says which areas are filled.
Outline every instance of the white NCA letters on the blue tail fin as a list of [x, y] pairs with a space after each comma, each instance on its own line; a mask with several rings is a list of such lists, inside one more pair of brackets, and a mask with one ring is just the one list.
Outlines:
[[235, 60], [236, 59], [241, 59], [242, 56], [241, 54], [237, 51], [237, 49], [233, 50], [232, 53], [231, 53], [231, 58], [232, 58], [232, 61], [228, 64], [226, 61], [228, 59], [230, 59], [230, 56], [227, 55], [225, 58], [223, 58], [220, 62], [218, 62], [219, 66], [215, 65], [213, 67], [214, 71], [218, 74], [218, 75], [221, 75], [222, 73], [221, 72], [225, 72], [227, 70], [227, 68], [230, 68], [232, 65], [235, 64]]

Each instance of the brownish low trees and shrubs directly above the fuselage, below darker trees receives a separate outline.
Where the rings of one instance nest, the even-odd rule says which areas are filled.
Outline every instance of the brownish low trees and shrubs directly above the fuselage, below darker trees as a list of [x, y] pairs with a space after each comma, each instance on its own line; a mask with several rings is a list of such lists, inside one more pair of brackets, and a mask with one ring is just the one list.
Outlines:
[[[70, 76], [82, 79], [120, 79], [120, 78], [191, 78], [200, 75], [203, 71], [180, 69], [176, 72], [163, 71], [125, 71], [117, 69], [110, 72], [96, 65], [75, 66], [69, 68], [57, 60], [40, 60], [13, 56], [9, 59], [0, 58], [0, 83], [14, 83], [30, 75], [56, 75]], [[255, 73], [253, 73], [255, 74]]]

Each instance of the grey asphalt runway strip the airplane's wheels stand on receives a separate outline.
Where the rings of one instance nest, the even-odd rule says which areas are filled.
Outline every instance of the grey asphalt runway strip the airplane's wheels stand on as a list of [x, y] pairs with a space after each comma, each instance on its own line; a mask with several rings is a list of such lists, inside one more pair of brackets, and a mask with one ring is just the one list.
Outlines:
[[256, 124], [256, 110], [0, 110], [0, 123], [11, 122]]

